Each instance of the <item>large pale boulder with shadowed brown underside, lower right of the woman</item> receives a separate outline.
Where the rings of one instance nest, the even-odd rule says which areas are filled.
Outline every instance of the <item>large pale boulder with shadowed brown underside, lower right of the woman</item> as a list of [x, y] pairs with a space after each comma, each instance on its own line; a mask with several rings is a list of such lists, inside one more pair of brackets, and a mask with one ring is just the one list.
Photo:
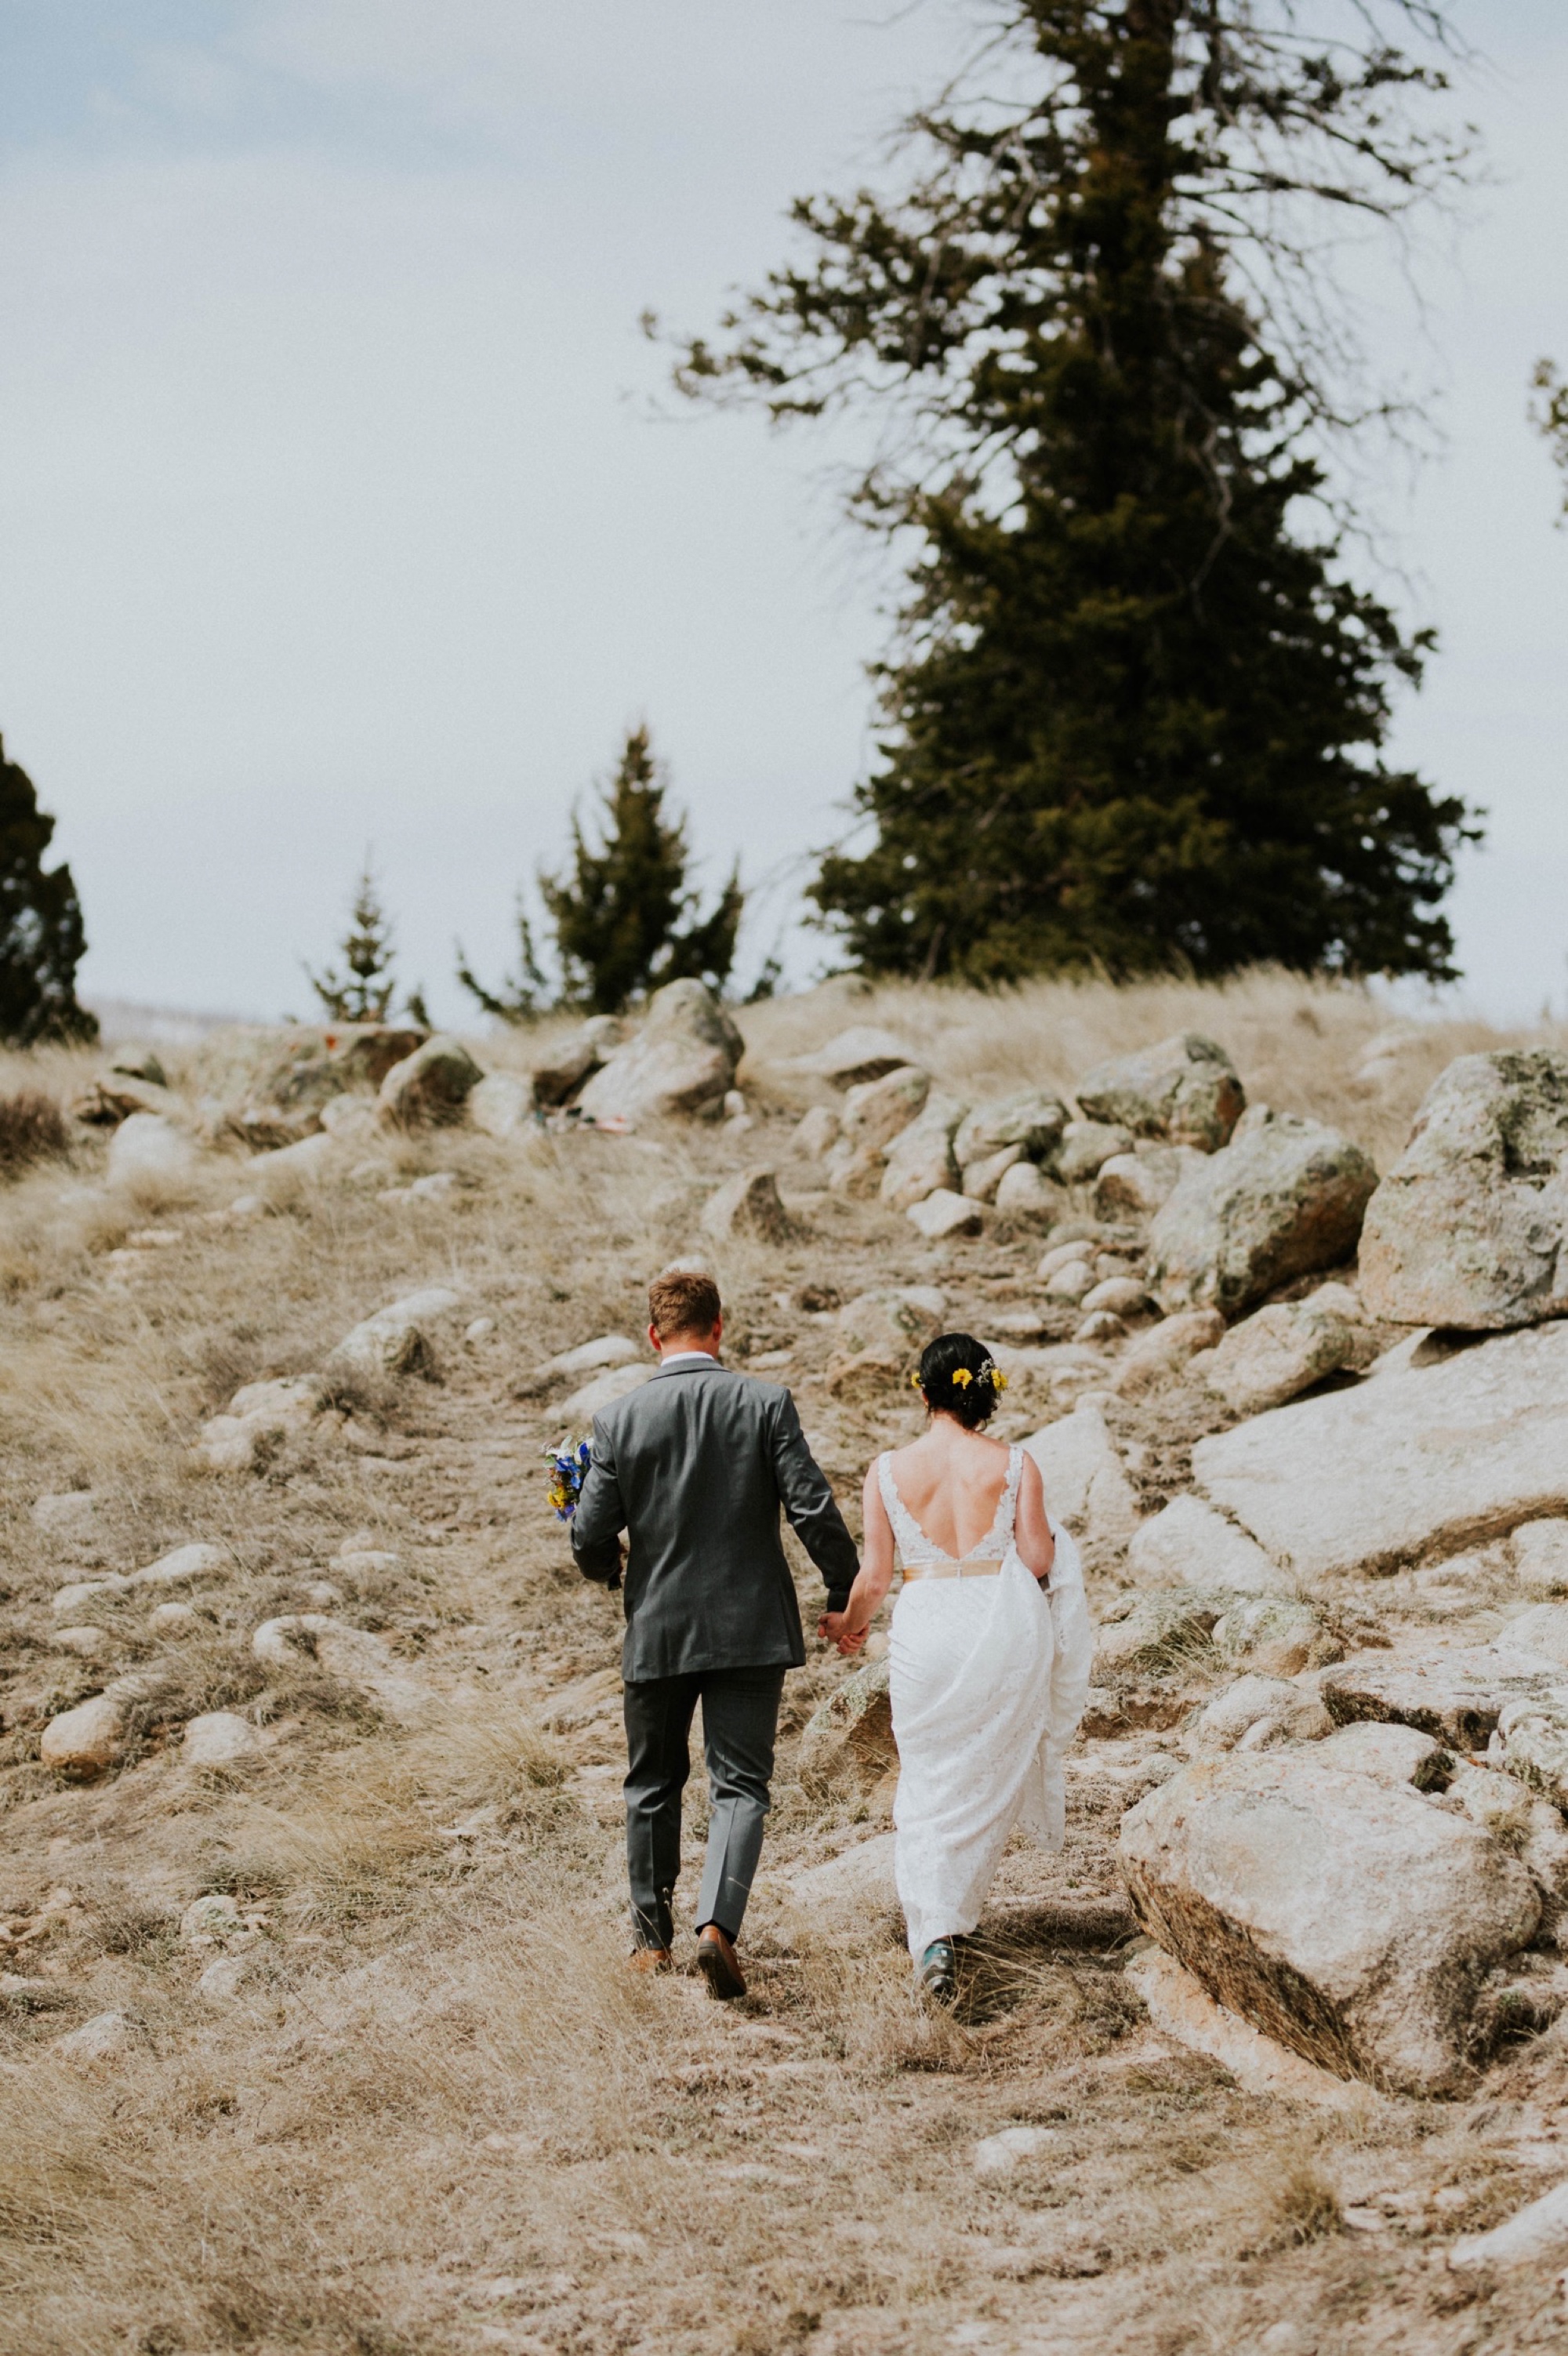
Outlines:
[[1540, 1925], [1500, 1840], [1309, 1748], [1172, 1776], [1123, 1816], [1121, 1861], [1144, 1930], [1220, 2005], [1406, 2094], [1469, 2085], [1481, 1981]]

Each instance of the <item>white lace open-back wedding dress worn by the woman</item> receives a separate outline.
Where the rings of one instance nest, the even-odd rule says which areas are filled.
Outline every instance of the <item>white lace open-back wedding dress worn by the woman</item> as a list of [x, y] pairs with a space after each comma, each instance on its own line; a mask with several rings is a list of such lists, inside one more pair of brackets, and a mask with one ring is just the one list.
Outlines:
[[[895, 1873], [916, 1963], [932, 1939], [975, 1930], [1015, 1826], [1048, 1849], [1064, 1838], [1062, 1755], [1083, 1715], [1095, 1637], [1069, 1534], [1050, 1522], [1048, 1593], [1017, 1553], [1022, 1472], [1024, 1451], [1008, 1449], [996, 1520], [963, 1557], [1001, 1560], [1001, 1571], [909, 1581], [892, 1609]], [[904, 1564], [951, 1564], [904, 1505], [888, 1456], [876, 1480]]]

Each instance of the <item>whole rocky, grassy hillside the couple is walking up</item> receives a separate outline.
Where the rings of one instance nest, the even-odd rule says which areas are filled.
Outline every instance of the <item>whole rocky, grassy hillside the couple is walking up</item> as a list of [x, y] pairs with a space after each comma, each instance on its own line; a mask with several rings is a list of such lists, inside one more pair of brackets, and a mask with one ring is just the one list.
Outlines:
[[[12, 1060], [68, 1126], [0, 1199], [0, 2349], [1561, 2344], [1549, 1088], [1406, 1154], [1528, 1041], [1271, 978], [742, 1025]], [[1085, 1546], [1067, 1849], [954, 2019], [817, 1652], [749, 2000], [622, 1970], [544, 1451], [695, 1253], [850, 1515], [965, 1326]]]

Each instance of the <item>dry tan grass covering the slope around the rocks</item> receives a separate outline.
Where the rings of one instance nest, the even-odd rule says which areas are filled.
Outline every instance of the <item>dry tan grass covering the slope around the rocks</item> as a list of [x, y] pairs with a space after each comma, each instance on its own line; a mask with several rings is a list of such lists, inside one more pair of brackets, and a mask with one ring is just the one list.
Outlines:
[[[697, 1244], [706, 1185], [786, 1157], [786, 1107], [810, 1093], [786, 1060], [852, 1020], [921, 1041], [965, 1093], [1071, 1086], [1102, 1053], [1208, 1030], [1255, 1096], [1337, 1119], [1382, 1159], [1441, 1063], [1490, 1044], [1441, 1025], [1366, 1074], [1384, 1011], [1278, 975], [986, 999], [836, 985], [742, 1011], [763, 1112], [742, 1143], [454, 1131], [377, 1147], [358, 1178], [268, 1183], [242, 1220], [226, 1216], [254, 1185], [238, 1152], [139, 1199], [106, 1187], [101, 1136], [24, 1171], [0, 1202], [0, 1972], [24, 1984], [0, 1986], [0, 2356], [1220, 2356], [1283, 2347], [1262, 2335], [1302, 2316], [1321, 2356], [1549, 2344], [1519, 2285], [1483, 2311], [1436, 2297], [1443, 2212], [1391, 2212], [1375, 2264], [1368, 2236], [1337, 2229], [1382, 2186], [1474, 2186], [1467, 2217], [1533, 2191], [1490, 2144], [1479, 2172], [1462, 2118], [1434, 2130], [1415, 2104], [1380, 2104], [1328, 2130], [1295, 2120], [1154, 2040], [1116, 1953], [1008, 1927], [1005, 1906], [1114, 1887], [1116, 1746], [1104, 1774], [1074, 1776], [1064, 1857], [1005, 1859], [956, 2017], [913, 2007], [885, 1918], [800, 1920], [789, 1901], [789, 1873], [885, 1828], [862, 1800], [808, 1795], [789, 1741], [749, 2000], [720, 2010], [692, 1977], [624, 1974], [614, 1696], [544, 1725], [565, 1685], [614, 1666], [619, 1626], [542, 1510], [539, 1451], [563, 1425], [532, 1371], [640, 1331], [643, 1284]], [[480, 1053], [523, 1063], [530, 1046]], [[170, 1077], [195, 1093], [259, 1051], [217, 1041]], [[0, 1058], [0, 1088], [66, 1103], [92, 1070], [66, 1051]], [[428, 1169], [452, 1169], [454, 1194], [381, 1199]], [[177, 1242], [132, 1242], [148, 1225]], [[984, 1326], [1029, 1298], [1034, 1256], [986, 1239], [937, 1265], [878, 1206], [817, 1199], [793, 1244], [720, 1253], [732, 1345], [793, 1352], [852, 1501], [909, 1404], [833, 1404], [831, 1333], [779, 1296], [937, 1272], [954, 1315]], [[457, 1284], [494, 1333], [454, 1331], [431, 1378], [356, 1395], [358, 1447], [306, 1437], [252, 1477], [193, 1463], [200, 1418], [240, 1383], [320, 1364], [428, 1282]], [[1147, 1421], [1151, 1451], [1184, 1444]], [[33, 1520], [59, 1491], [92, 1494], [78, 1529]], [[104, 1659], [57, 1647], [61, 1581], [191, 1538], [228, 1555], [181, 1590], [191, 1623], [158, 1633], [148, 1597], [108, 1593], [78, 1612]], [[348, 1538], [398, 1564], [344, 1569]], [[257, 1623], [320, 1609], [323, 1581], [332, 1614], [424, 1685], [421, 1722], [308, 1663], [254, 1661]], [[127, 1765], [57, 1783], [42, 1725], [129, 1668], [148, 1699]], [[836, 1675], [815, 1656], [793, 1680], [793, 1727]], [[207, 1708], [252, 1718], [259, 1765], [181, 1765], [181, 1725]], [[692, 1793], [687, 1899], [699, 1828]], [[207, 1892], [252, 1922], [228, 1993], [202, 1993], [221, 1951], [179, 1930]], [[115, 2059], [54, 2052], [101, 2012], [127, 2021]], [[977, 2177], [975, 2142], [1015, 2123], [1052, 2139]]]

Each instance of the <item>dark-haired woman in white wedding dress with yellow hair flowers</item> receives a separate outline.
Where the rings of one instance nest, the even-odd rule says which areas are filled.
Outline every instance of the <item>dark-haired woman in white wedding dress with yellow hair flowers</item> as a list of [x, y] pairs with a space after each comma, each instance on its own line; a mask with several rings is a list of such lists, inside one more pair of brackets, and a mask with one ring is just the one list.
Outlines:
[[1062, 1847], [1062, 1753], [1083, 1715], [1092, 1630], [1078, 1548], [1045, 1510], [1038, 1465], [984, 1437], [1001, 1388], [991, 1355], [970, 1333], [939, 1333], [916, 1383], [928, 1430], [866, 1472], [862, 1569], [822, 1635], [859, 1652], [897, 1546], [895, 1873], [916, 1986], [951, 2003], [956, 1941], [975, 1930], [1012, 1828]]

